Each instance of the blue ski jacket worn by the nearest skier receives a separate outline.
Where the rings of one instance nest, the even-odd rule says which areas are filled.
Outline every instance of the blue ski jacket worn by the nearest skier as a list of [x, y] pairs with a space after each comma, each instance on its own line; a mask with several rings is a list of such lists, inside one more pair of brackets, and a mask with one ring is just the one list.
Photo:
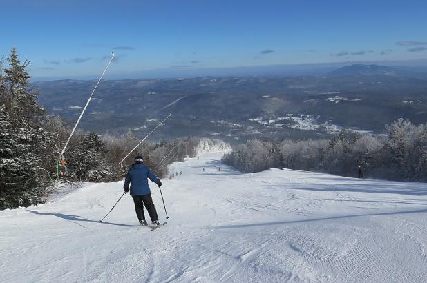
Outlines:
[[160, 182], [160, 179], [155, 177], [150, 168], [142, 163], [133, 164], [124, 179], [123, 188], [128, 188], [129, 184], [131, 184], [131, 195], [148, 195], [151, 191], [147, 178], [156, 184]]

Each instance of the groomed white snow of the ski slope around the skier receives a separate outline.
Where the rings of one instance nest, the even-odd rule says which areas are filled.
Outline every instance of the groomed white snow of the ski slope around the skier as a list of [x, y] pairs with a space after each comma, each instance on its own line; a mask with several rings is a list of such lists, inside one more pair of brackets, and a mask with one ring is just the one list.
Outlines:
[[129, 195], [99, 223], [122, 182], [1, 211], [0, 282], [426, 282], [427, 184], [243, 174], [218, 153], [170, 168], [156, 231]]

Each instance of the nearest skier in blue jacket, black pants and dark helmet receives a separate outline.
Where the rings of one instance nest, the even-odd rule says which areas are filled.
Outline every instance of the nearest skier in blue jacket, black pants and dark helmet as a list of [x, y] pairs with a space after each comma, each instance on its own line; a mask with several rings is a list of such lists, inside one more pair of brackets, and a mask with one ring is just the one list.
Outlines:
[[155, 226], [160, 226], [159, 217], [157, 215], [157, 211], [155, 211], [147, 178], [151, 179], [152, 182], [155, 182], [159, 188], [162, 186], [160, 179], [155, 177], [153, 172], [151, 172], [151, 169], [144, 165], [144, 159], [140, 156], [136, 156], [135, 164], [133, 164], [129, 169], [126, 179], [124, 179], [123, 188], [127, 193], [129, 192], [129, 184], [131, 184], [131, 196], [135, 203], [135, 212], [140, 224], [147, 224], [144, 215], [145, 204], [146, 210], [149, 212], [151, 222], [153, 222]]

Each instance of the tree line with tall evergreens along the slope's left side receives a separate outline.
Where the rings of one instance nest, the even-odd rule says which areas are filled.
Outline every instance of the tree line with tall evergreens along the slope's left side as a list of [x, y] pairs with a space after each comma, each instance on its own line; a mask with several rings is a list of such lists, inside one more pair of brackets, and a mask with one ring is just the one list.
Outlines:
[[[167, 165], [196, 155], [200, 139], [188, 137], [158, 143], [144, 142], [126, 160], [120, 161], [139, 142], [123, 137], [75, 133], [66, 150], [66, 164], [59, 155], [70, 128], [37, 104], [29, 90], [29, 61], [21, 63], [14, 48], [0, 61], [0, 210], [44, 202], [59, 182], [113, 182], [122, 179], [135, 155], [142, 155], [156, 175], [167, 175]], [[162, 166], [159, 162], [164, 159]]]

